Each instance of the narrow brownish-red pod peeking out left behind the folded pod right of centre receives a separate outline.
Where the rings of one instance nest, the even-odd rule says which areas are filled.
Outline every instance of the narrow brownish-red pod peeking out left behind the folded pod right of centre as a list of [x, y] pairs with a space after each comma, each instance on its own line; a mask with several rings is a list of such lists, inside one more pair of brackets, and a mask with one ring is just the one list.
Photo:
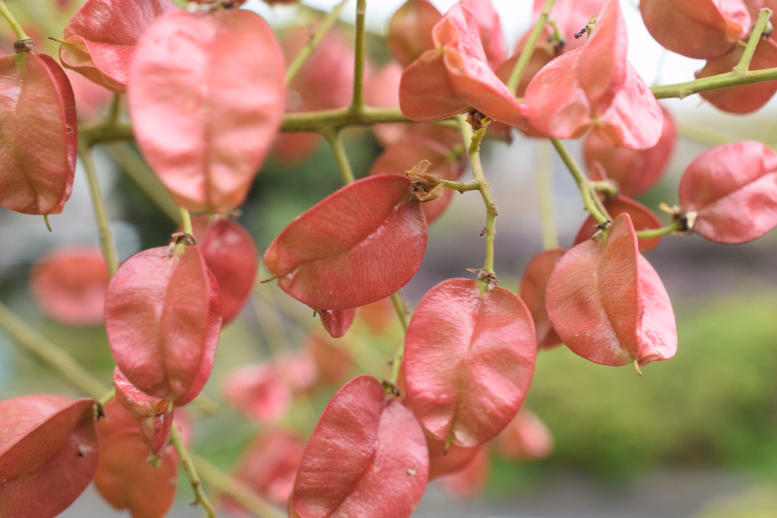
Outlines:
[[528, 263], [521, 277], [520, 295], [531, 313], [537, 332], [539, 349], [552, 349], [561, 343], [559, 335], [553, 329], [545, 309], [545, 290], [548, 288], [550, 274], [566, 253], [566, 249], [549, 249], [539, 252]]

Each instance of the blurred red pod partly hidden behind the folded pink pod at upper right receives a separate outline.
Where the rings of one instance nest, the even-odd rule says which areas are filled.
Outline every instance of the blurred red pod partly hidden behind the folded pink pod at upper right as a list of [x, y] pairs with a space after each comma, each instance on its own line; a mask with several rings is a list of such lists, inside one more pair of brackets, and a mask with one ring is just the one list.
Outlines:
[[610, 144], [598, 132], [591, 131], [583, 144], [588, 169], [593, 172], [594, 164], [599, 162], [607, 177], [618, 183], [620, 193], [624, 196], [636, 197], [650, 190], [664, 174], [677, 141], [674, 118], [664, 106], [661, 106], [661, 112], [664, 114], [664, 126], [658, 143], [652, 148], [638, 150], [618, 147]]

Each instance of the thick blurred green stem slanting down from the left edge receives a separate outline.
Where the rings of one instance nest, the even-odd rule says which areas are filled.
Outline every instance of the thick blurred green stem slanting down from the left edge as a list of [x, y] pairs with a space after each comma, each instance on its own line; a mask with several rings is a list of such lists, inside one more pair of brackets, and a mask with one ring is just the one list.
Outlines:
[[31, 325], [16, 316], [5, 304], [0, 303], [0, 327], [5, 329], [17, 345], [34, 353], [41, 360], [56, 368], [72, 384], [92, 398], [99, 399], [109, 390], [88, 370], [78, 365], [73, 356], [54, 345]]

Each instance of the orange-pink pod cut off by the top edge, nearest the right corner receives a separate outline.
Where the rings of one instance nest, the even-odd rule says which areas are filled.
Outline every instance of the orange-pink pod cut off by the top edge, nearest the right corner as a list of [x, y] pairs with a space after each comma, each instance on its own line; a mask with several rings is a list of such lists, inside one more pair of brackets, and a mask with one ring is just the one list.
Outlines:
[[639, 11], [658, 43], [696, 59], [726, 54], [751, 27], [742, 0], [645, 0]]

